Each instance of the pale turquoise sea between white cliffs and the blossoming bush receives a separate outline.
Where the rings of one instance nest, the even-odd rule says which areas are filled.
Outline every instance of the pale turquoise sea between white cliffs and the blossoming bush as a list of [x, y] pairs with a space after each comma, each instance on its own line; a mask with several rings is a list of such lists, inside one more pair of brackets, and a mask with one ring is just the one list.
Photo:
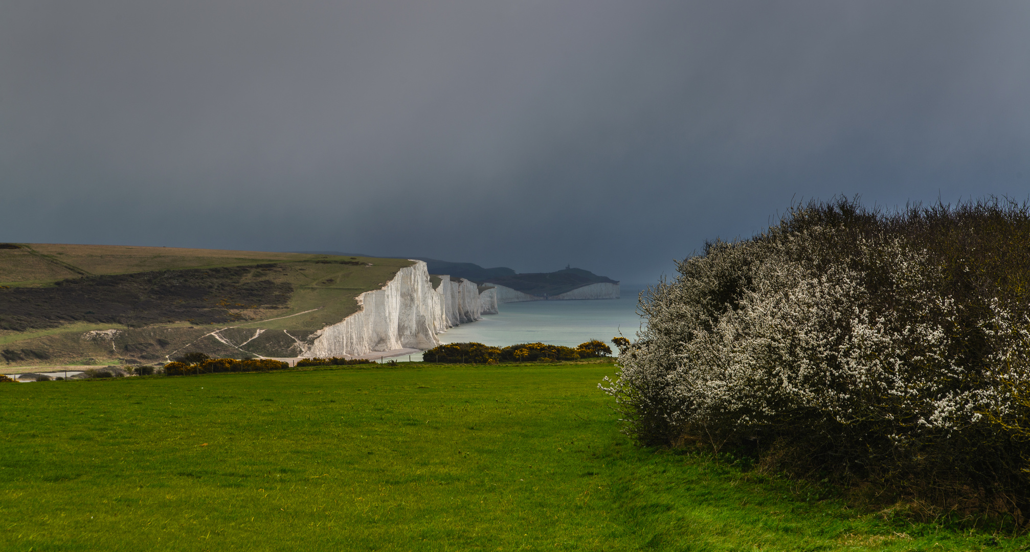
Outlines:
[[[526, 301], [501, 303], [497, 314], [484, 314], [475, 322], [440, 334], [441, 343], [475, 341], [495, 347], [542, 342], [575, 347], [597, 339], [612, 346], [612, 338], [637, 338], [644, 319], [637, 314], [643, 285], [620, 285], [620, 299], [581, 301]], [[421, 354], [412, 355], [421, 360]]]

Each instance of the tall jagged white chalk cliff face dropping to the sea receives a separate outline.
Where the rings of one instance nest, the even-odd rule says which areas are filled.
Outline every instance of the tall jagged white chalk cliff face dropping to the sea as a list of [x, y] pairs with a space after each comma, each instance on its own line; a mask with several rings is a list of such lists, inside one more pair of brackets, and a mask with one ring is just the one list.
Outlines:
[[440, 345], [437, 334], [497, 312], [497, 294], [442, 276], [436, 288], [425, 263], [403, 268], [382, 288], [357, 297], [362, 310], [316, 332], [303, 357], [357, 356]]

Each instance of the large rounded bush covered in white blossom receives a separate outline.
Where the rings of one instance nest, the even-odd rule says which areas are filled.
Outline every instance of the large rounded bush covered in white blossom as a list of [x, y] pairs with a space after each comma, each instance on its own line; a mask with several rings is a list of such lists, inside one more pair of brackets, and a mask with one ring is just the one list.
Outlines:
[[1027, 205], [811, 203], [678, 272], [603, 384], [640, 442], [1026, 522]]

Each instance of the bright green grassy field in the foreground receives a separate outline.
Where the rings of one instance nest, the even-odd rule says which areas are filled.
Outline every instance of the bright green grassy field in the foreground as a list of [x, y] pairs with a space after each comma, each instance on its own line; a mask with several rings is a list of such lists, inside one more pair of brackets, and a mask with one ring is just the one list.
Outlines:
[[[638, 448], [610, 364], [0, 386], [2, 550], [1017, 550]], [[995, 544], [996, 543], [996, 544]]]

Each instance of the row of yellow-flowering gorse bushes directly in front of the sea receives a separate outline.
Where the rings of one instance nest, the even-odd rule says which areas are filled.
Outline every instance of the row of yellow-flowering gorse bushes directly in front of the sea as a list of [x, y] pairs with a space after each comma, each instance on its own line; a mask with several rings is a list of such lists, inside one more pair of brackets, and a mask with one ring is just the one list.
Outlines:
[[494, 365], [497, 363], [530, 363], [579, 360], [612, 354], [612, 349], [598, 340], [581, 343], [575, 349], [546, 343], [519, 343], [508, 347], [490, 347], [482, 343], [448, 343], [422, 353], [425, 363], [467, 363]]

